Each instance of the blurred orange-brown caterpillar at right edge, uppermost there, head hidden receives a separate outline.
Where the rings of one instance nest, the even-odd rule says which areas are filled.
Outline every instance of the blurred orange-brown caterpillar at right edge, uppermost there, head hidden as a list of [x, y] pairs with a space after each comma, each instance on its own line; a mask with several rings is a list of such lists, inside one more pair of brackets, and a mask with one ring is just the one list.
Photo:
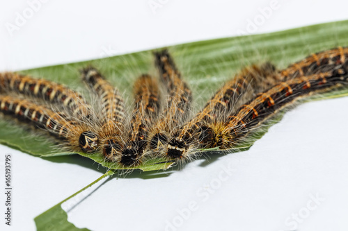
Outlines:
[[337, 47], [326, 51], [313, 53], [299, 62], [295, 62], [281, 71], [286, 79], [297, 76], [308, 76], [320, 72], [326, 72], [335, 66], [342, 65], [348, 58], [348, 47]]

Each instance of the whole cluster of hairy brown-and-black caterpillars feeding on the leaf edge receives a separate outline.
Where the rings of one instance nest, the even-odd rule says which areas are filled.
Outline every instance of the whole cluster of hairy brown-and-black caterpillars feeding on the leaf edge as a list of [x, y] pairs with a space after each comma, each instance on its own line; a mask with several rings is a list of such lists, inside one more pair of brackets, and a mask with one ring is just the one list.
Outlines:
[[45, 128], [70, 151], [97, 152], [106, 161], [135, 167], [154, 157], [186, 162], [204, 149], [234, 148], [297, 99], [348, 85], [348, 48], [338, 47], [283, 70], [269, 62], [246, 67], [190, 117], [191, 90], [173, 58], [166, 49], [154, 56], [166, 96], [157, 78], [143, 74], [134, 83], [131, 113], [118, 89], [94, 67], [80, 73], [100, 99], [98, 112], [64, 85], [12, 72], [0, 74], [0, 111]]

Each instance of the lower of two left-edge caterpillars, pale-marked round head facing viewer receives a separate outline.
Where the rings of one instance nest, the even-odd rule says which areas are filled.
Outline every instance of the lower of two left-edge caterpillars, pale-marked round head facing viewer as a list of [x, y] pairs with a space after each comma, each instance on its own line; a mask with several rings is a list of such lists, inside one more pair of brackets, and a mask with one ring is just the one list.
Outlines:
[[71, 151], [91, 153], [98, 146], [99, 139], [93, 130], [44, 105], [15, 96], [0, 95], [0, 111], [35, 127], [45, 128], [54, 137], [64, 139]]

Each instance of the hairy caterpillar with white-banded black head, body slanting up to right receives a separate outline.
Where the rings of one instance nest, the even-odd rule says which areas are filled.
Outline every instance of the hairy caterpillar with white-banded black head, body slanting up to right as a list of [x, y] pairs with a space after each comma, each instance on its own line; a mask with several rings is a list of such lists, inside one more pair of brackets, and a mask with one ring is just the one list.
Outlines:
[[237, 108], [251, 99], [258, 92], [268, 89], [272, 85], [279, 83], [282, 76], [274, 65], [269, 62], [263, 65], [252, 65], [246, 67], [228, 81], [210, 99], [205, 108], [198, 112], [193, 119], [184, 126], [173, 132], [173, 136], [168, 142], [164, 153], [171, 158], [178, 158], [184, 151], [187, 143], [195, 143], [207, 137], [209, 131], [205, 124], [214, 121], [223, 121], [228, 118]]

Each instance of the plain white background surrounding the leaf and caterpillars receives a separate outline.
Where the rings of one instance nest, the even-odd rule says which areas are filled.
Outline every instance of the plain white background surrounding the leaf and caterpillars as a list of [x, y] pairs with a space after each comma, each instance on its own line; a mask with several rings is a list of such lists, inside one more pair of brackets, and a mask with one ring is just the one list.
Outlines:
[[[10, 35], [6, 24], [15, 24], [16, 12], [29, 3], [1, 0], [0, 71], [237, 35], [260, 14], [258, 8], [271, 3], [155, 2], [162, 7], [154, 12], [148, 0], [50, 0]], [[344, 1], [278, 4], [257, 33], [347, 19]], [[69, 221], [91, 230], [347, 230], [347, 105], [347, 98], [300, 105], [249, 151], [211, 164], [199, 160], [157, 178], [112, 178], [71, 209]], [[104, 173], [79, 157], [42, 160], [0, 148], [2, 156], [13, 155], [14, 168], [13, 226], [6, 230], [35, 230], [35, 216]], [[223, 170], [229, 166], [230, 175]], [[2, 195], [0, 214], [3, 209]]]

